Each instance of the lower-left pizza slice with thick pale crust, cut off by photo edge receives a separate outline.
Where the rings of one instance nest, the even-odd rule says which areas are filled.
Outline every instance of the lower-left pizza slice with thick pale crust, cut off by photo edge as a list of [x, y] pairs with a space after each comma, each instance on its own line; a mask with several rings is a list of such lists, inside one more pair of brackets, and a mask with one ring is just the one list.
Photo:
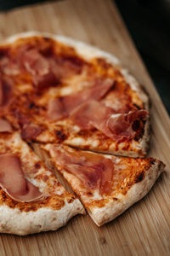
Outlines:
[[57, 230], [83, 213], [7, 120], [0, 119], [0, 232], [27, 235]]

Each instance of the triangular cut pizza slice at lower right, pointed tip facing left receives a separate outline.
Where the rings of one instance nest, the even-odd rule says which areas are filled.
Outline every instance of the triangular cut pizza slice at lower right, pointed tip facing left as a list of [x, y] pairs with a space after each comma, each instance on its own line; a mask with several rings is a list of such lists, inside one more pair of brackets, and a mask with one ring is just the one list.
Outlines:
[[143, 198], [164, 169], [153, 158], [122, 158], [50, 143], [41, 148], [99, 226]]

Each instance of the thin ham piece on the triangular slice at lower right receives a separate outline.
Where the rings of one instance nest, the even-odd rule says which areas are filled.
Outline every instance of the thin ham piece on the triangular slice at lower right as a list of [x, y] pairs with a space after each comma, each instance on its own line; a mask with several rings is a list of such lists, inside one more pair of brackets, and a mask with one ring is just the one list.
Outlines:
[[54, 145], [56, 162], [75, 175], [88, 190], [99, 190], [100, 195], [110, 195], [113, 163], [99, 154], [85, 151], [71, 152], [66, 147]]

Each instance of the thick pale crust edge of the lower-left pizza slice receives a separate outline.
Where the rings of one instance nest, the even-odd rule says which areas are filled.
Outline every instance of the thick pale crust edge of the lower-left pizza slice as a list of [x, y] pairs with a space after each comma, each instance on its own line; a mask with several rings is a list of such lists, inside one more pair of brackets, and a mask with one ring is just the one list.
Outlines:
[[[48, 207], [39, 208], [36, 212], [20, 212], [8, 206], [0, 206], [0, 232], [26, 236], [48, 230], [58, 230], [73, 216], [81, 213], [78, 199], [59, 210]], [[82, 210], [83, 213], [83, 210]]]

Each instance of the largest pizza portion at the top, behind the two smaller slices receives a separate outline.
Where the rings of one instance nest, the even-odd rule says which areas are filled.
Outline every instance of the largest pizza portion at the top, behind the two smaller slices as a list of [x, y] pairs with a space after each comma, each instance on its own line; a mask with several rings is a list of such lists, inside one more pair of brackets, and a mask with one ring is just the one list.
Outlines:
[[0, 111], [24, 140], [146, 154], [148, 96], [115, 56], [33, 32], [9, 38], [0, 55]]

